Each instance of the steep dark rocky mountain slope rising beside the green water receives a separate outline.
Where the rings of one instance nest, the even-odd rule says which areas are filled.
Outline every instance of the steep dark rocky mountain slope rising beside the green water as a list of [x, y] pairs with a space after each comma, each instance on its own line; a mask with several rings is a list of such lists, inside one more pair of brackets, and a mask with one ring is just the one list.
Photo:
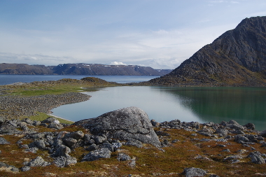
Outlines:
[[266, 17], [246, 18], [152, 85], [266, 86]]

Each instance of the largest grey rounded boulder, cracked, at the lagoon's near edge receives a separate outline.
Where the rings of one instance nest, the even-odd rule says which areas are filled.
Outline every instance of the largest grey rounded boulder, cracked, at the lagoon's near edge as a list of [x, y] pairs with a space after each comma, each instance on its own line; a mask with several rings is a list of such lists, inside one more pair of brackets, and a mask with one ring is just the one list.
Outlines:
[[97, 118], [80, 120], [73, 125], [82, 125], [94, 135], [106, 134], [111, 139], [130, 138], [160, 146], [148, 115], [137, 107], [121, 108]]

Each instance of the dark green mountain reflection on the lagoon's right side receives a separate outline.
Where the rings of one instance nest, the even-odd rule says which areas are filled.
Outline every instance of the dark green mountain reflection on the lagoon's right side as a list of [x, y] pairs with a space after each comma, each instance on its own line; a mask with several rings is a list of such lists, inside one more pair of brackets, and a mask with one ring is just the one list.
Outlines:
[[164, 88], [160, 92], [175, 95], [200, 122], [236, 120], [252, 122], [256, 129], [266, 129], [266, 89], [263, 87], [183, 87]]

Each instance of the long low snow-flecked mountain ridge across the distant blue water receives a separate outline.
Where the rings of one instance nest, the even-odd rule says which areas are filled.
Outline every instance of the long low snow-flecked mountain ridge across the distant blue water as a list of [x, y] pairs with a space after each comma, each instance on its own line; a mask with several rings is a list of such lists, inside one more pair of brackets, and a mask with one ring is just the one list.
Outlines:
[[87, 75], [87, 76], [164, 76], [172, 69], [137, 65], [59, 64], [57, 66], [0, 64], [0, 74]]

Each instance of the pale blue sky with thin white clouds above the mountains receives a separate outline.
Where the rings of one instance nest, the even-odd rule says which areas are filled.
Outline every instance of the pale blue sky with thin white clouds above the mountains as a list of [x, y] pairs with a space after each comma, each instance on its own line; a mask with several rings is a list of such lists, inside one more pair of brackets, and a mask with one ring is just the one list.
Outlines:
[[175, 69], [265, 0], [1, 0], [0, 63]]

